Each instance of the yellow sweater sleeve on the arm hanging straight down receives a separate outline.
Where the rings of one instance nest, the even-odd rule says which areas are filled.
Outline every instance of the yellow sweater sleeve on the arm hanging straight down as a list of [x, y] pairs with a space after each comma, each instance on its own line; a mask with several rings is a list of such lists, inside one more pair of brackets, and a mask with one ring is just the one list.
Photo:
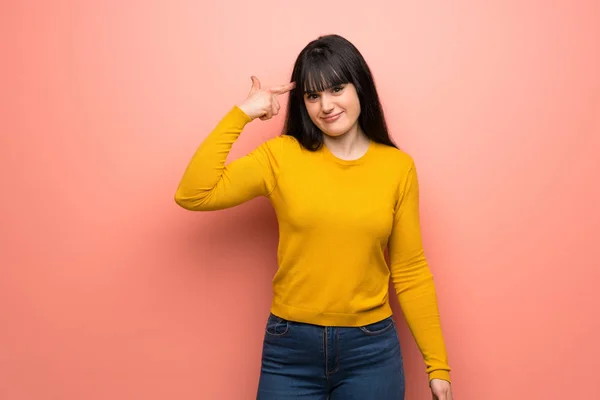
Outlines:
[[429, 380], [450, 381], [433, 275], [422, 245], [419, 184], [412, 160], [400, 186], [388, 245], [392, 282], [406, 323], [423, 355]]

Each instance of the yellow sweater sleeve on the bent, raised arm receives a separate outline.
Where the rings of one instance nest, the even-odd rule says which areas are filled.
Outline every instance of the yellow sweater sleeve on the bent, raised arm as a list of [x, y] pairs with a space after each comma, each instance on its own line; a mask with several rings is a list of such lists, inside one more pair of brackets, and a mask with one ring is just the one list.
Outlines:
[[227, 165], [233, 143], [251, 121], [234, 106], [202, 142], [175, 192], [175, 202], [191, 211], [230, 208], [268, 195], [276, 185], [272, 141]]

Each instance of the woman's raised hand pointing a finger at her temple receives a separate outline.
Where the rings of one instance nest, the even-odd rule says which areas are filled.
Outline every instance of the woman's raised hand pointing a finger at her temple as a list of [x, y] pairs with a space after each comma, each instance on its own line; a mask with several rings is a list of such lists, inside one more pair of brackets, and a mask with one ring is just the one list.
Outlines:
[[262, 121], [271, 119], [274, 115], [279, 114], [279, 101], [277, 96], [287, 93], [296, 87], [296, 83], [288, 83], [286, 85], [276, 86], [269, 89], [261, 89], [260, 81], [257, 77], [252, 76], [252, 88], [246, 100], [238, 104], [238, 107], [246, 113], [250, 118], [260, 118]]

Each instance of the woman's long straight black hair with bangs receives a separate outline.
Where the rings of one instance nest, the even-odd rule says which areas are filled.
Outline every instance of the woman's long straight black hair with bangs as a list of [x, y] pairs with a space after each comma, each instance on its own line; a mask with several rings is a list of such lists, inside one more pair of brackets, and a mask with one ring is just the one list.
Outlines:
[[352, 83], [360, 101], [358, 123], [365, 135], [377, 143], [397, 147], [391, 140], [371, 70], [362, 54], [339, 35], [320, 36], [298, 55], [291, 82], [283, 134], [295, 137], [308, 150], [323, 145], [323, 132], [312, 122], [304, 104], [306, 92]]

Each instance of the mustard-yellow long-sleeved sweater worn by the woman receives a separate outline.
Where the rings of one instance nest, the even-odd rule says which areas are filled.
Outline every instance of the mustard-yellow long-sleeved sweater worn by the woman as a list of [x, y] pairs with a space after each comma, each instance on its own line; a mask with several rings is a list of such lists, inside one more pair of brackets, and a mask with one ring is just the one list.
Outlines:
[[379, 321], [392, 314], [391, 276], [429, 378], [450, 380], [412, 158], [371, 142], [363, 157], [346, 161], [282, 135], [226, 165], [250, 121], [234, 106], [219, 122], [190, 161], [177, 204], [206, 211], [270, 199], [279, 222], [271, 311], [282, 318], [331, 326]]

